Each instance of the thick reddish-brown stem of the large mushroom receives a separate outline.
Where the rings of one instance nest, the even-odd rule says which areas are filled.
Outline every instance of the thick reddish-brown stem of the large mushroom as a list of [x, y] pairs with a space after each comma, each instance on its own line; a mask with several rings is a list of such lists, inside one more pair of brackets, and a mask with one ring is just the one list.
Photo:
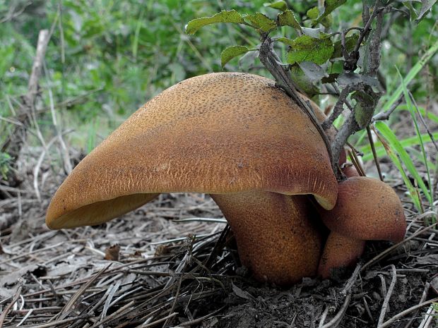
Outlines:
[[242, 264], [257, 280], [287, 285], [316, 274], [322, 237], [307, 197], [267, 191], [211, 197], [235, 234]]

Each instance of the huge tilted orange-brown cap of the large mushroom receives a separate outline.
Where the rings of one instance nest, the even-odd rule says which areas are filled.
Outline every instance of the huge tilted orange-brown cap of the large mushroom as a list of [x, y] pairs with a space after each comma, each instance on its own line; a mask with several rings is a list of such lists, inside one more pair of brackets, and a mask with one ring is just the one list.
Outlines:
[[318, 131], [272, 80], [212, 73], [165, 90], [109, 135], [66, 178], [46, 222], [100, 224], [163, 192], [250, 190], [312, 194], [331, 209], [337, 183]]

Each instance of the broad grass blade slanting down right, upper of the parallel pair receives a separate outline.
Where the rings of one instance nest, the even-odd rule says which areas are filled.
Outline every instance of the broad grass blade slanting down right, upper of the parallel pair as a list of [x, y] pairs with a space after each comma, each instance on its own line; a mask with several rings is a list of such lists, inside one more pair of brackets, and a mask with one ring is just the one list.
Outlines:
[[415, 165], [413, 164], [412, 159], [410, 158], [408, 152], [403, 148], [400, 141], [398, 141], [397, 136], [392, 132], [392, 130], [384, 123], [384, 122], [376, 122], [374, 123], [377, 130], [383, 135], [383, 137], [386, 139], [386, 141], [389, 143], [389, 146], [391, 147], [391, 150], [396, 152], [398, 156], [400, 157], [403, 164], [405, 164], [406, 169], [408, 169], [409, 173], [413, 176], [415, 181], [417, 181], [418, 186], [422, 190], [422, 192], [425, 194], [425, 197], [427, 198], [427, 201], [432, 203], [432, 197], [429, 193], [429, 190], [425, 186], [425, 183], [422, 181], [422, 178], [420, 174], [418, 174], [417, 169], [415, 169]]

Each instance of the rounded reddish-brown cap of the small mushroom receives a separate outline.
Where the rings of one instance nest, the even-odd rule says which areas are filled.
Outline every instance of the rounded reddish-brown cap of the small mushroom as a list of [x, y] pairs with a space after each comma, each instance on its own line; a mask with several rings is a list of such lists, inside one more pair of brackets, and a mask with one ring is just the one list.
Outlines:
[[339, 183], [338, 200], [321, 210], [324, 224], [349, 238], [402, 241], [406, 232], [403, 206], [394, 190], [376, 178], [353, 176]]

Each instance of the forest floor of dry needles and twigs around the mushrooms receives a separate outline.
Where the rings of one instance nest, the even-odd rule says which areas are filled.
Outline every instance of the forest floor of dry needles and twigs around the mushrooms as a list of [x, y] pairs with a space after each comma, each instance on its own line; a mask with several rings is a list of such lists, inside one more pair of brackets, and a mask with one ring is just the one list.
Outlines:
[[41, 203], [31, 183], [0, 200], [0, 327], [437, 327], [438, 227], [409, 202], [403, 243], [368, 243], [355, 272], [277, 288], [239, 265], [208, 195], [160, 195], [100, 226], [49, 231], [60, 182], [47, 177]]

